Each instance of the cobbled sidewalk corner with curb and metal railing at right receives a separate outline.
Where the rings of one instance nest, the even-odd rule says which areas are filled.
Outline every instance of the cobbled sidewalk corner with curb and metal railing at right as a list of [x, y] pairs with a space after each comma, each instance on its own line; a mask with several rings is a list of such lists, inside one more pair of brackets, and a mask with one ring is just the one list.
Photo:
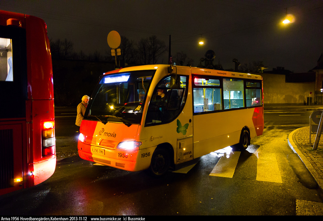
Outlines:
[[318, 143], [317, 150], [313, 150], [316, 134], [311, 134], [309, 144], [309, 126], [298, 128], [288, 136], [288, 144], [298, 154], [309, 172], [313, 175], [323, 191], [323, 134]]

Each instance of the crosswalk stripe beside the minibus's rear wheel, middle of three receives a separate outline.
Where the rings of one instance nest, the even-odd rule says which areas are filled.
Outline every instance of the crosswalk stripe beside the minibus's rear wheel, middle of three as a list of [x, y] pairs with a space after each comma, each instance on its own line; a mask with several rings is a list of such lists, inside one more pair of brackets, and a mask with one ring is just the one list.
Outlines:
[[240, 153], [240, 151], [231, 152], [229, 158], [227, 155], [222, 156], [209, 175], [232, 178]]

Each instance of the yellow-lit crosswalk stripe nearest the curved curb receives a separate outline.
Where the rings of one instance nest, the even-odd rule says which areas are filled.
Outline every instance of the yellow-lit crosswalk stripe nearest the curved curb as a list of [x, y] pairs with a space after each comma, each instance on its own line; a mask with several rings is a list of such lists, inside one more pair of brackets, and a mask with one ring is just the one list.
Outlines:
[[275, 153], [258, 153], [256, 180], [283, 183]]

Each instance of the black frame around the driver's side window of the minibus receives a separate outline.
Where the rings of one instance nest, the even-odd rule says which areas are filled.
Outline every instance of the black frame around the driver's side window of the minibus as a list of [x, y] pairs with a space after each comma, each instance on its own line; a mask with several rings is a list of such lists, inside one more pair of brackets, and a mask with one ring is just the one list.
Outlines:
[[[149, 110], [149, 107], [151, 105], [151, 101], [153, 99], [153, 97], [155, 96], [154, 94], [157, 92], [157, 89], [158, 88], [161, 88], [159, 87], [159, 85], [161, 84], [161, 82], [163, 80], [165, 80], [166, 78], [169, 78], [169, 77], [176, 77], [176, 74], [169, 74], [169, 75], [166, 75], [166, 76], [163, 76], [159, 81], [158, 83], [155, 85], [153, 91], [152, 91], [152, 96], [151, 96], [151, 100], [149, 100], [149, 104], [148, 104], [148, 107], [147, 107], [147, 111], [145, 113], [145, 122], [144, 122], [144, 127], [150, 127], [150, 126], [156, 126], [156, 125], [162, 125], [162, 124], [167, 124], [167, 123], [170, 123], [174, 120], [176, 120], [176, 118], [178, 118], [178, 116], [181, 114], [182, 110], [184, 109], [185, 107], [185, 104], [186, 104], [186, 100], [187, 100], [187, 95], [188, 95], [188, 87], [189, 87], [189, 75], [182, 75], [182, 74], [177, 74], [177, 78], [183, 78], [185, 77], [186, 78], [186, 83], [185, 83], [185, 88], [184, 88], [184, 93], [182, 94], [182, 103], [181, 103], [181, 107], [178, 109], [178, 113], [171, 119], [171, 120], [168, 120], [168, 121], [165, 121], [165, 122], [158, 122], [158, 123], [151, 123], [151, 124], [147, 124], [147, 114], [148, 114], [148, 110]], [[169, 88], [166, 88], [166, 89], [170, 89], [172, 90], [171, 87]]]

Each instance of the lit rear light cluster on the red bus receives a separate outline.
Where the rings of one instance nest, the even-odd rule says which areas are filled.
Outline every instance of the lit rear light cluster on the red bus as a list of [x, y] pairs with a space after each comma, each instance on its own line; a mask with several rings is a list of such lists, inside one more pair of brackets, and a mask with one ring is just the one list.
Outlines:
[[42, 156], [55, 154], [55, 121], [42, 121]]

